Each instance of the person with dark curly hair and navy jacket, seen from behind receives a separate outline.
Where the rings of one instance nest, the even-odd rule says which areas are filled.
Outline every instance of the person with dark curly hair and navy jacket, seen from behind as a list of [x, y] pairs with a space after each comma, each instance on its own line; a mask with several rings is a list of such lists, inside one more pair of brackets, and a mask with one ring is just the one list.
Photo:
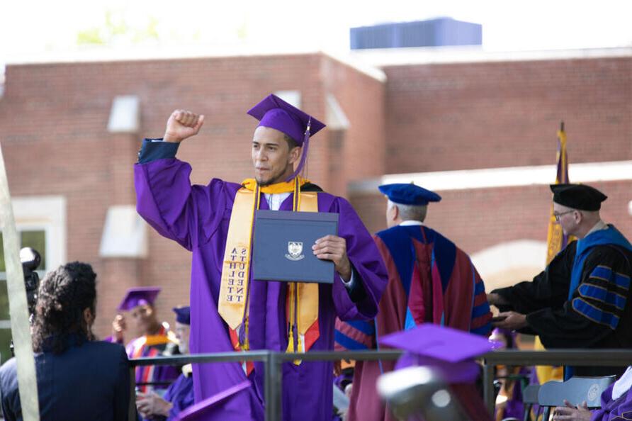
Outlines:
[[[128, 420], [128, 356], [95, 340], [95, 308], [89, 264], [60, 266], [40, 284], [32, 334], [42, 421]], [[0, 368], [0, 391], [5, 420], [22, 420], [14, 358]]]

